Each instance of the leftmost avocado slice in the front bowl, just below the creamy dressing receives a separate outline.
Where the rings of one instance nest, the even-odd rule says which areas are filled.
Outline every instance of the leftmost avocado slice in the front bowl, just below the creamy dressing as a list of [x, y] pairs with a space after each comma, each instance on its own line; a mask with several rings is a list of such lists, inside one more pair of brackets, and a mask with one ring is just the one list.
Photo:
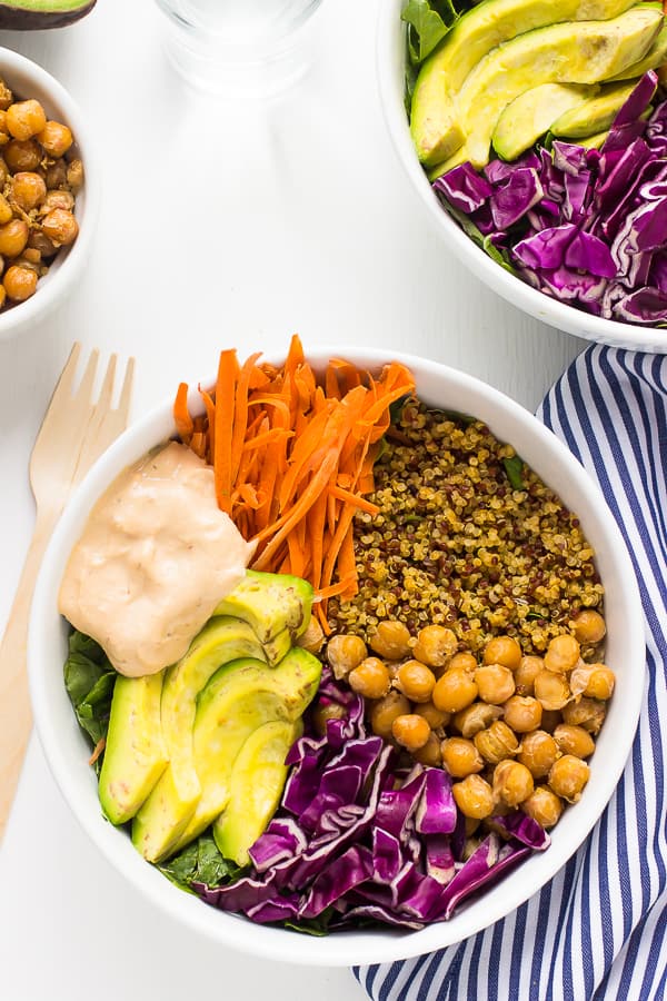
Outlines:
[[160, 726], [163, 676], [160, 671], [116, 680], [99, 782], [100, 803], [112, 824], [135, 816], [167, 765]]

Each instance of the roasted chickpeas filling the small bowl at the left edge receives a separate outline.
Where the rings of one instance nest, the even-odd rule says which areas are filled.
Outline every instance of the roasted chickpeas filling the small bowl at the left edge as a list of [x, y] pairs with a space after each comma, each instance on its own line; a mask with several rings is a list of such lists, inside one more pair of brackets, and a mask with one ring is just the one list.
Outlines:
[[53, 258], [77, 238], [83, 167], [73, 136], [39, 101], [14, 100], [0, 80], [0, 309], [29, 299]]

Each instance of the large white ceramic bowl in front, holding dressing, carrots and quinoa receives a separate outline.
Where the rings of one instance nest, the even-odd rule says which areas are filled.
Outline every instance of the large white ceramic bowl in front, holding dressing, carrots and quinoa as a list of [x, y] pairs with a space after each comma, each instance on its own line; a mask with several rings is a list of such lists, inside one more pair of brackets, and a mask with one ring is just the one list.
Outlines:
[[[308, 351], [316, 364], [338, 354], [339, 349]], [[377, 349], [346, 354], [365, 368], [379, 368], [388, 360]], [[171, 398], [131, 427], [82, 483], [53, 535], [32, 605], [29, 673], [37, 729], [46, 759], [82, 827], [118, 872], [173, 919], [220, 943], [276, 960], [325, 965], [395, 960], [458, 942], [508, 914], [564, 865], [599, 817], [629, 754], [639, 714], [645, 670], [641, 606], [623, 538], [597, 486], [560, 440], [508, 397], [444, 365], [410, 356], [392, 357], [412, 369], [418, 393], [427, 403], [485, 420], [577, 512], [597, 553], [606, 587], [607, 661], [617, 674], [616, 693], [591, 759], [590, 781], [580, 802], [568, 807], [552, 831], [551, 846], [529, 858], [450, 921], [417, 932], [350, 931], [326, 938], [253, 925], [175, 888], [141, 859], [123, 832], [102, 819], [97, 780], [87, 764], [90, 751], [62, 681], [68, 631], [58, 615], [57, 594], [66, 561], [91, 505], [126, 466], [173, 433]]]

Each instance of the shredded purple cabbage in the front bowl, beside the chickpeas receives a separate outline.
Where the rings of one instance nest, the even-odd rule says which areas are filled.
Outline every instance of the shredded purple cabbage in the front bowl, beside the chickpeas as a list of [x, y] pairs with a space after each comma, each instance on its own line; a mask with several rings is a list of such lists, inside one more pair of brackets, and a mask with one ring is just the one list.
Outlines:
[[327, 920], [327, 928], [381, 922], [419, 929], [442, 921], [549, 835], [520, 811], [494, 817], [466, 858], [465, 817], [442, 769], [399, 766], [368, 734], [364, 700], [325, 671], [320, 697], [346, 708], [322, 737], [292, 746], [282, 804], [250, 849], [251, 871], [202, 900], [257, 923]]

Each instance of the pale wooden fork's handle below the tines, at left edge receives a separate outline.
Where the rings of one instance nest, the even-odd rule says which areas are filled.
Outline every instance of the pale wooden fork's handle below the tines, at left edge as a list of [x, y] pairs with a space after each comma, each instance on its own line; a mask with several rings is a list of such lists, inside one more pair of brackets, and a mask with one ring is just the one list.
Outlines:
[[0, 844], [32, 727], [28, 692], [28, 616], [34, 582], [59, 511], [38, 511], [32, 542], [0, 644]]

